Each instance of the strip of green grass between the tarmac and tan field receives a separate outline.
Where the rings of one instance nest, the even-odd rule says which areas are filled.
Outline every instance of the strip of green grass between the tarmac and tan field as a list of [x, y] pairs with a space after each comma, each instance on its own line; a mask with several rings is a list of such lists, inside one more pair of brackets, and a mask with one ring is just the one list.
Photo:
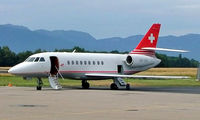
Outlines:
[[[173, 79], [173, 80], [141, 80], [141, 79], [125, 79], [131, 86], [200, 86], [200, 82], [192, 79]], [[81, 86], [80, 80], [59, 79], [62, 86]], [[91, 86], [110, 86], [112, 80], [89, 81]], [[24, 80], [18, 76], [1, 76], [0, 86], [7, 86], [11, 83], [13, 86], [36, 86], [37, 79]], [[43, 79], [44, 86], [49, 86], [49, 82]]]

